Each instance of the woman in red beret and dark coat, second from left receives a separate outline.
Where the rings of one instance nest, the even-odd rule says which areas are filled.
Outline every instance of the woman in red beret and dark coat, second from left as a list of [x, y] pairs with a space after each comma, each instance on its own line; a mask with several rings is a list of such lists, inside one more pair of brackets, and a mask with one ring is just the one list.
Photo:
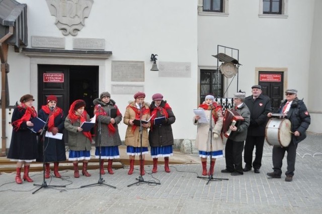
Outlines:
[[[58, 172], [58, 165], [60, 161], [66, 160], [65, 142], [64, 139], [58, 139], [48, 137], [48, 134], [53, 136], [57, 133], [63, 132], [65, 116], [61, 108], [57, 106], [57, 97], [49, 95], [46, 99], [46, 105], [43, 105], [38, 112], [38, 117], [43, 121], [48, 121], [46, 124], [46, 130], [44, 132], [45, 138], [41, 140], [39, 147], [39, 157], [37, 161], [45, 162], [45, 178], [50, 178], [50, 165], [49, 162], [54, 163], [54, 175], [56, 178], [60, 178], [61, 175]], [[45, 148], [45, 160], [43, 160], [43, 144]]]

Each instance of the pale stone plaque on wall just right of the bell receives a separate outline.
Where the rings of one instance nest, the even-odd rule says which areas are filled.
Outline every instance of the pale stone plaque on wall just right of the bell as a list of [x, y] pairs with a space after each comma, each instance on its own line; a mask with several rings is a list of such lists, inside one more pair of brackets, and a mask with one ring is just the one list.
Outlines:
[[160, 61], [158, 64], [159, 77], [191, 77], [190, 62], [165, 62]]

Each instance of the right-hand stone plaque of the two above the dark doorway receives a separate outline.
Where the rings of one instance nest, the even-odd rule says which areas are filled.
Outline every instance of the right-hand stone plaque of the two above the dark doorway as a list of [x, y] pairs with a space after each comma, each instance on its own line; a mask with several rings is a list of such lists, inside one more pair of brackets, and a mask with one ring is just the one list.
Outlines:
[[105, 50], [105, 39], [73, 38], [73, 49]]

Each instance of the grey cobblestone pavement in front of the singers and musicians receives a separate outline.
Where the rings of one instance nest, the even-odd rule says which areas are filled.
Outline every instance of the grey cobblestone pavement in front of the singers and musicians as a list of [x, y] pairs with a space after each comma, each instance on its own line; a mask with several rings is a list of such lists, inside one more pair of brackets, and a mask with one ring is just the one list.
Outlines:
[[[201, 176], [201, 164], [171, 165], [171, 173], [163, 166], [151, 174], [145, 166], [145, 182], [137, 182], [138, 166], [132, 175], [128, 168], [105, 174], [99, 184], [99, 170], [91, 177], [73, 177], [73, 171], [61, 171], [62, 179], [46, 179], [48, 185], [66, 187], [41, 188], [42, 172], [30, 173], [33, 183], [14, 182], [15, 173], [0, 175], [1, 213], [321, 213], [322, 212], [322, 135], [309, 134], [297, 149], [295, 175], [285, 182], [286, 158], [281, 179], [270, 179], [272, 147], [265, 143], [260, 174], [254, 171], [242, 176], [221, 173], [224, 159], [218, 159], [215, 178]], [[175, 155], [175, 154], [174, 154]], [[146, 183], [160, 182], [160, 185]], [[83, 185], [97, 184], [81, 188]]]

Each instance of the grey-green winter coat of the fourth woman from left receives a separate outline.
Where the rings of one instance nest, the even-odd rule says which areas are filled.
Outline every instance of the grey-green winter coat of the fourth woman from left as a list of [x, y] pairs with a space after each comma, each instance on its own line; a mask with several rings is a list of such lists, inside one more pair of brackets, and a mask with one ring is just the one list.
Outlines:
[[110, 99], [109, 103], [104, 103], [103, 101], [101, 101], [101, 99], [95, 99], [93, 101], [94, 105], [98, 105], [100, 104], [102, 106], [102, 108], [104, 109], [104, 111], [107, 113], [107, 116], [103, 116], [100, 115], [97, 119], [96, 119], [96, 124], [95, 124], [95, 146], [98, 147], [99, 146], [99, 126], [98, 126], [98, 122], [101, 122], [101, 146], [102, 147], [113, 147], [113, 146], [120, 146], [121, 145], [121, 138], [120, 138], [120, 134], [119, 134], [119, 129], [118, 129], [118, 124], [121, 122], [122, 120], [122, 114], [118, 115], [114, 118], [115, 123], [113, 124], [114, 128], [115, 128], [115, 133], [110, 133], [110, 130], [108, 129], [108, 124], [110, 124], [111, 122], [111, 117], [108, 115], [109, 114], [109, 110], [112, 108], [117, 108], [117, 106], [115, 105], [115, 101]]

